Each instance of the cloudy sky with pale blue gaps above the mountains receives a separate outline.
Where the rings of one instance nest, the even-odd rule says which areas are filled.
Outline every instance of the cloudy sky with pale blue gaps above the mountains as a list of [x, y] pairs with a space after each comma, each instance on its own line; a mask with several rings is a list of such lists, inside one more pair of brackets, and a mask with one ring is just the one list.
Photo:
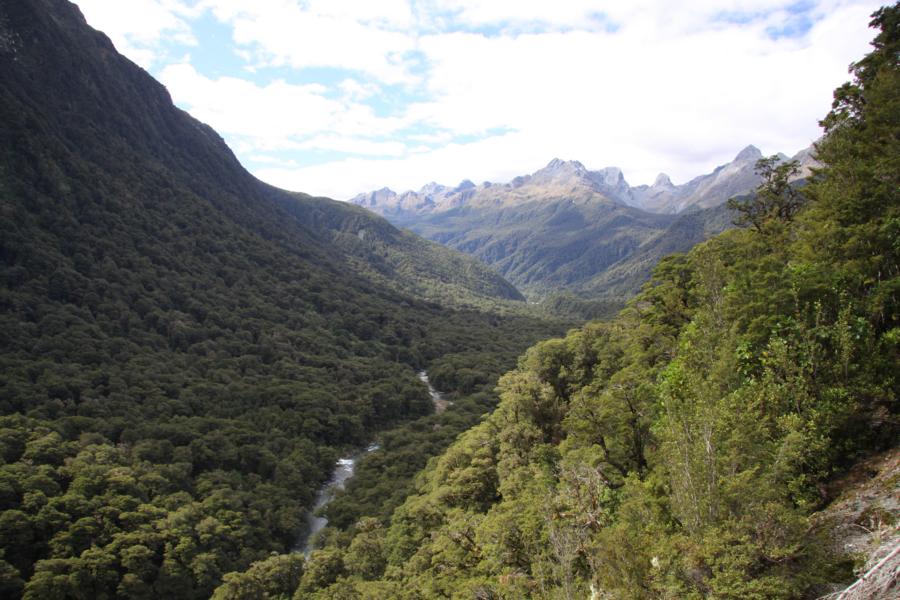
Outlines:
[[793, 154], [869, 50], [865, 0], [75, 0], [279, 187], [505, 182], [553, 158], [683, 183]]

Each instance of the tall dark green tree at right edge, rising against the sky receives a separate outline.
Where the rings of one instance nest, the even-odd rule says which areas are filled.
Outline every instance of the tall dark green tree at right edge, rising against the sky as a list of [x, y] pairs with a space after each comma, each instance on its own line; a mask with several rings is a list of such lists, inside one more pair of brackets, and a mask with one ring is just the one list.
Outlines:
[[832, 290], [834, 313], [833, 290], [845, 290], [881, 334], [900, 326], [900, 4], [878, 10], [871, 26], [880, 30], [872, 52], [851, 66], [853, 81], [822, 121], [824, 168], [811, 186], [803, 257], [805, 285]]

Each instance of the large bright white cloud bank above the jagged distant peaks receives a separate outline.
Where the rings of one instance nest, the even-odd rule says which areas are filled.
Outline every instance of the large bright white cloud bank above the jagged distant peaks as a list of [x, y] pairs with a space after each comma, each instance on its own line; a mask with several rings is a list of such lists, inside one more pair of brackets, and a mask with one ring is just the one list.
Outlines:
[[410, 117], [458, 133], [509, 128], [545, 160], [618, 165], [632, 183], [661, 170], [684, 181], [749, 143], [793, 152], [818, 137], [849, 57], [866, 51], [871, 10], [837, 6], [797, 39], [772, 39], [769, 19], [690, 35], [641, 22], [604, 34], [426, 36], [434, 99]]

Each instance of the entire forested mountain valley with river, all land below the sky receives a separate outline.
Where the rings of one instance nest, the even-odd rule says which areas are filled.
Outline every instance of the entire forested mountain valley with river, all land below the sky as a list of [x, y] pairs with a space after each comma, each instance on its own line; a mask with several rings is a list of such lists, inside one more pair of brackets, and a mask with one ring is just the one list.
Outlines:
[[793, 160], [339, 202], [75, 4], [0, 3], [0, 597], [891, 597], [900, 5], [871, 26]]

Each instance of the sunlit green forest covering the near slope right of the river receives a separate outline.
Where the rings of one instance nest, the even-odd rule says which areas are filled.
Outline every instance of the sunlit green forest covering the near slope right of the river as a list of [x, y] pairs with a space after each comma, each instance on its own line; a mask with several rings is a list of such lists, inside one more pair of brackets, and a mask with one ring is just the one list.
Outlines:
[[332, 532], [306, 562], [228, 574], [214, 598], [764, 600], [849, 584], [864, 557], [830, 543], [826, 484], [898, 435], [900, 4], [872, 26], [808, 185], [761, 160], [764, 183], [732, 202], [743, 227], [662, 260], [614, 319], [528, 350], [389, 518]]

